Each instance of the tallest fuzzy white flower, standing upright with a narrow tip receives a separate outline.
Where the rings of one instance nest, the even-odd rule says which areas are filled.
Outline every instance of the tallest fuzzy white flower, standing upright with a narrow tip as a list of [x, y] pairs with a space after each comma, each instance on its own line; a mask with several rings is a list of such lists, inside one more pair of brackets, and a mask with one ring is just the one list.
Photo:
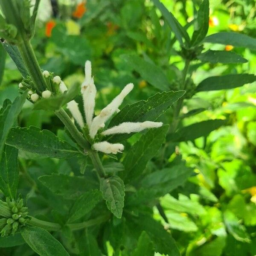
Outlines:
[[85, 72], [85, 79], [81, 86], [81, 93], [83, 95], [86, 123], [90, 128], [92, 119], [93, 119], [95, 97], [97, 92], [93, 78], [91, 77], [92, 68], [91, 68], [90, 61], [85, 62], [84, 72]]

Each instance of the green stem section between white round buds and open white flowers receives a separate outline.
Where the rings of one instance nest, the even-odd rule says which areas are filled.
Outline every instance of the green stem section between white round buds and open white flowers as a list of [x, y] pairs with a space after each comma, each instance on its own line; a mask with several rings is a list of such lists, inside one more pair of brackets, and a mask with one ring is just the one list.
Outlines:
[[90, 144], [87, 142], [87, 140], [85, 140], [85, 138], [76, 128], [76, 125], [73, 124], [66, 111], [64, 111], [64, 109], [61, 108], [59, 111], [55, 111], [55, 114], [66, 126], [67, 130], [70, 132], [71, 136], [76, 141], [76, 143], [78, 143], [78, 145], [80, 145], [81, 148], [86, 149], [87, 151], [90, 150]]

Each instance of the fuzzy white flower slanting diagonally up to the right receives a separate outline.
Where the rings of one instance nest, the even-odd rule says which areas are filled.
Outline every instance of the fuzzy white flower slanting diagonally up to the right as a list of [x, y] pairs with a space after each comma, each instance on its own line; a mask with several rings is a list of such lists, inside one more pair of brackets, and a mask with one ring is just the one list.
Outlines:
[[103, 108], [100, 112], [99, 116], [96, 116], [93, 119], [92, 125], [90, 127], [90, 137], [94, 139], [95, 135], [97, 134], [99, 128], [102, 128], [105, 126], [105, 122], [113, 115], [113, 113], [118, 110], [119, 106], [122, 104], [123, 99], [125, 96], [127, 96], [128, 93], [131, 92], [133, 89], [134, 84], [130, 83], [127, 84], [119, 93], [119, 95], [116, 96], [112, 100], [111, 103], [107, 105], [107, 107]]

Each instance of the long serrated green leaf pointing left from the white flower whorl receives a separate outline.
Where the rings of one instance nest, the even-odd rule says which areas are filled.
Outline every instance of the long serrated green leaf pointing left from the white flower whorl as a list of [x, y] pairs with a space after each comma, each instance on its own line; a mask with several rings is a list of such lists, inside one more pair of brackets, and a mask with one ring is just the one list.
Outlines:
[[[19, 139], [17, 140], [17, 138]], [[51, 131], [41, 131], [33, 126], [30, 128], [12, 128], [6, 144], [44, 157], [68, 158], [79, 154], [76, 148], [59, 139]]]

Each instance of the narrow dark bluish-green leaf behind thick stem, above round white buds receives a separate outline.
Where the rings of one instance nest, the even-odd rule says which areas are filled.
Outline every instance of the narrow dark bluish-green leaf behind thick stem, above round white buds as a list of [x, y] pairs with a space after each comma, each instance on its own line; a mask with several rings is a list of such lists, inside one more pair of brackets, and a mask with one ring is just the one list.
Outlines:
[[26, 69], [26, 66], [21, 58], [20, 52], [16, 45], [9, 44], [7, 41], [4, 41], [3, 47], [6, 50], [6, 52], [10, 55], [12, 60], [14, 61], [15, 65], [17, 66], [18, 70], [20, 71], [21, 75], [26, 78], [29, 76], [29, 73]]

